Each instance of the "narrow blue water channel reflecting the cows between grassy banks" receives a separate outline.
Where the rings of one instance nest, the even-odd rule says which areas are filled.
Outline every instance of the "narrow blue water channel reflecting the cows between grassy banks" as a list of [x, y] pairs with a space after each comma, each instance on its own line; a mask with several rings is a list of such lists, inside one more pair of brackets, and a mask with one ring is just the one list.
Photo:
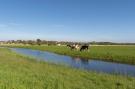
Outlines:
[[74, 68], [90, 70], [95, 72], [120, 74], [135, 77], [134, 65], [73, 58], [70, 56], [59, 55], [51, 52], [24, 48], [11, 48], [11, 50], [23, 55], [35, 57], [38, 60], [44, 60], [49, 63], [64, 64]]

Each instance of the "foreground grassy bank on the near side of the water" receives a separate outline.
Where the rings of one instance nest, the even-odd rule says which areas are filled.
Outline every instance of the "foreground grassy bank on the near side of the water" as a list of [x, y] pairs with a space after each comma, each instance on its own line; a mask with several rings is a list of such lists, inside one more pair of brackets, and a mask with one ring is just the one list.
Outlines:
[[0, 89], [135, 89], [135, 78], [39, 62], [0, 48]]

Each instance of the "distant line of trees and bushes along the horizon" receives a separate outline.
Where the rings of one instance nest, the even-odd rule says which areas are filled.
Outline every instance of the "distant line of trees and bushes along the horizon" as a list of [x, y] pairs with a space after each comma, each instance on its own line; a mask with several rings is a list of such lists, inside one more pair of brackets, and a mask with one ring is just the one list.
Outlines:
[[5, 44], [30, 44], [30, 45], [67, 45], [67, 44], [78, 44], [78, 45], [135, 45], [135, 43], [114, 43], [114, 42], [67, 42], [67, 41], [47, 41], [47, 40], [8, 40], [8, 41], [0, 41], [0, 43]]

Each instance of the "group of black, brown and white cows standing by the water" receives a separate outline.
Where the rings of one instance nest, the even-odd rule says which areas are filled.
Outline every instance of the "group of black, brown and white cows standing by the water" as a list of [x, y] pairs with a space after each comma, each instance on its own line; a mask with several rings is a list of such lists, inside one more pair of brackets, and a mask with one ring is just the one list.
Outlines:
[[68, 44], [67, 47], [69, 47], [71, 50], [78, 50], [78, 51], [84, 51], [89, 49], [89, 45]]

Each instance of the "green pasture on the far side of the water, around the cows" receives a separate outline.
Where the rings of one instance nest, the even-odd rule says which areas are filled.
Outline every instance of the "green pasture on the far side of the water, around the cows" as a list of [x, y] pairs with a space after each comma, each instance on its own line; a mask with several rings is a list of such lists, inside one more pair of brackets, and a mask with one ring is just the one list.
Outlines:
[[31, 48], [37, 50], [46, 50], [73, 57], [87, 59], [98, 59], [112, 62], [135, 64], [135, 46], [91, 46], [89, 51], [71, 51], [66, 46], [26, 46], [26, 45], [8, 45], [10, 47]]

